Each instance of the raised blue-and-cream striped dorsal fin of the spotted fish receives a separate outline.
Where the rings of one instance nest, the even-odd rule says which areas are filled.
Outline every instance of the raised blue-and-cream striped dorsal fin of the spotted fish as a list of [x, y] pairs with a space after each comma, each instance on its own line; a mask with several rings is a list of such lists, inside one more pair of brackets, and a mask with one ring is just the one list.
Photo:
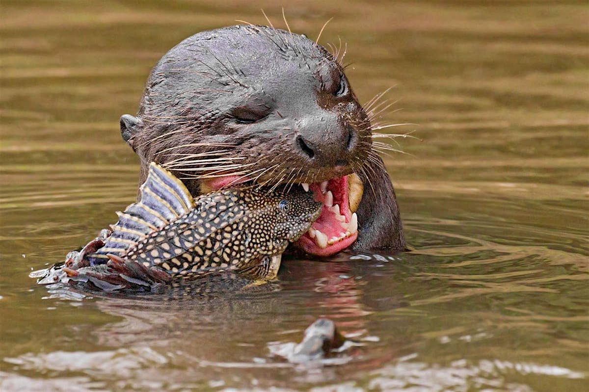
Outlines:
[[108, 260], [106, 254], [123, 256], [148, 234], [160, 230], [194, 208], [194, 200], [184, 184], [169, 171], [151, 162], [147, 179], [139, 188], [141, 199], [117, 212], [112, 234], [96, 253], [87, 258], [94, 263]]

